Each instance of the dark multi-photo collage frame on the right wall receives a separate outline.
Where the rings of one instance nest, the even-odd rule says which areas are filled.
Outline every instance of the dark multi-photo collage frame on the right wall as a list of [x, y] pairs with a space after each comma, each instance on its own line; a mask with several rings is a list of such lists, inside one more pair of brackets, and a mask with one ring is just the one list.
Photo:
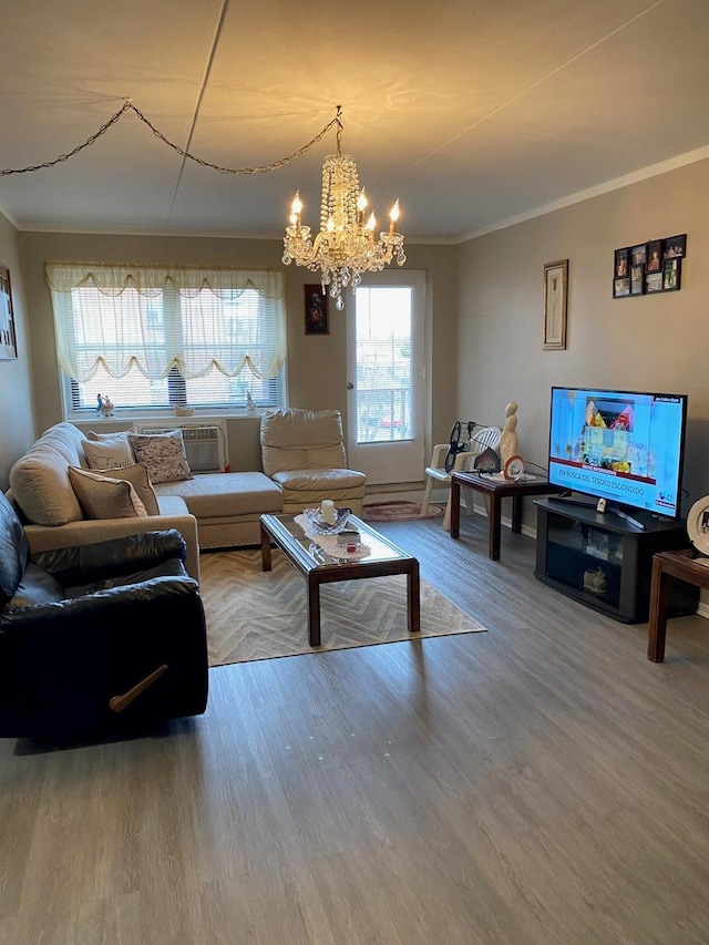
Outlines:
[[614, 299], [678, 291], [686, 255], [686, 233], [616, 249], [613, 260]]

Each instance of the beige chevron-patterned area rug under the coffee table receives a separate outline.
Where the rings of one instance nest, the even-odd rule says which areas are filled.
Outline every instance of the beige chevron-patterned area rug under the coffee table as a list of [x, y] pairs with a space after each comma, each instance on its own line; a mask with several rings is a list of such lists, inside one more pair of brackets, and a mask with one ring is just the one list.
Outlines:
[[320, 588], [322, 645], [314, 649], [306, 583], [280, 551], [270, 572], [261, 572], [260, 551], [203, 554], [201, 567], [209, 666], [485, 629], [421, 582], [421, 633], [411, 635], [405, 577], [369, 577]]

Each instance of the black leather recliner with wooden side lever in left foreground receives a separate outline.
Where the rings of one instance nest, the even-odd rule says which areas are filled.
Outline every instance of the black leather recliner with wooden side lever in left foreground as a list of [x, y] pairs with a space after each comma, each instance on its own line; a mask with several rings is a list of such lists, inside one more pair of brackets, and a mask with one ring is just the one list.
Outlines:
[[126, 731], [207, 703], [196, 581], [175, 530], [30, 561], [0, 493], [0, 736]]

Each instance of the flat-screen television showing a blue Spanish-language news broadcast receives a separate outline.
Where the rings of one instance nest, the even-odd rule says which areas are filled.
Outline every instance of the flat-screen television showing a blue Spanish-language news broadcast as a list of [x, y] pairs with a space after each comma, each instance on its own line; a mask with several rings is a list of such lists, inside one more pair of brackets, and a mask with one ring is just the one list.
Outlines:
[[552, 388], [549, 482], [677, 517], [687, 394]]

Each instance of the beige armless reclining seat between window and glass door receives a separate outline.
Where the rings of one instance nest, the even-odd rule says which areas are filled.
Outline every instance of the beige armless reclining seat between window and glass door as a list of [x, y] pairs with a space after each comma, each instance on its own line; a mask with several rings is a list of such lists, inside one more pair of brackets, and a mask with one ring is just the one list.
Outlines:
[[367, 476], [347, 469], [339, 410], [271, 410], [261, 418], [260, 443], [264, 472], [280, 486], [284, 512], [331, 499], [362, 514]]

